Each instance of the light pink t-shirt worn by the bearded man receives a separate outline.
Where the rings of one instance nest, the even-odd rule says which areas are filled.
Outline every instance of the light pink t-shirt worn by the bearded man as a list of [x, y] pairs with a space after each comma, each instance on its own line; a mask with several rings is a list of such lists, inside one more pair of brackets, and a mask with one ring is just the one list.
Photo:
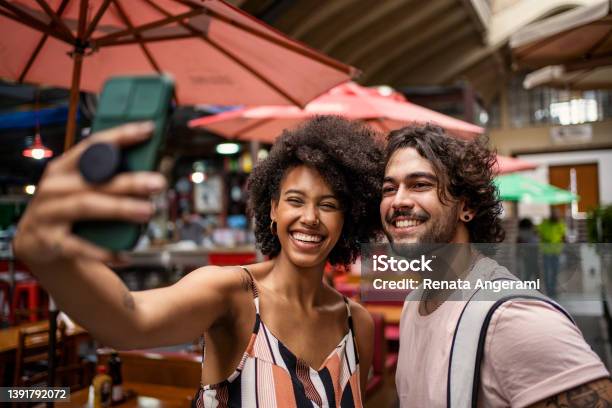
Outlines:
[[[447, 406], [450, 348], [464, 305], [447, 301], [421, 316], [419, 302], [405, 302], [396, 373], [402, 408]], [[544, 302], [508, 301], [489, 324], [478, 406], [526, 407], [607, 376], [565, 315]]]

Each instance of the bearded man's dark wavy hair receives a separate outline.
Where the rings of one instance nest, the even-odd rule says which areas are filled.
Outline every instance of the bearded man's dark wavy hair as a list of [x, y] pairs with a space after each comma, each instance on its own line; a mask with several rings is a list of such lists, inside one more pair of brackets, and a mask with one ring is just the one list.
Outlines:
[[387, 136], [385, 163], [393, 153], [412, 147], [429, 160], [438, 177], [438, 196], [442, 203], [464, 199], [475, 211], [466, 223], [471, 242], [497, 243], [505, 233], [499, 215], [502, 207], [493, 184], [496, 154], [486, 139], [462, 140], [446, 134], [432, 124], [412, 125], [395, 130]]

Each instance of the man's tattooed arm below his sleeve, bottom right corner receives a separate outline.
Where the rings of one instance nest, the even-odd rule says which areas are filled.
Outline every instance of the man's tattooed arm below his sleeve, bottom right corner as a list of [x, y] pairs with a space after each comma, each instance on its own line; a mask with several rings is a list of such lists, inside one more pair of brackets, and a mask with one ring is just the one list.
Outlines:
[[612, 408], [610, 378], [593, 381], [548, 398], [544, 407], [551, 408]]

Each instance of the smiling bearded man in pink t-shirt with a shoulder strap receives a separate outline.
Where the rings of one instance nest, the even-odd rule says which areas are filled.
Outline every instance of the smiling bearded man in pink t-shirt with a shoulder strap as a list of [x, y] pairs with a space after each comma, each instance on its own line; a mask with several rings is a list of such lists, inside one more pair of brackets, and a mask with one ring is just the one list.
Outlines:
[[[452, 262], [456, 277], [507, 279], [505, 268], [469, 245], [504, 237], [494, 163], [495, 154], [482, 142], [451, 138], [436, 126], [391, 132], [380, 213], [393, 247], [457, 244], [463, 249]], [[451, 345], [466, 302], [448, 299], [447, 292], [424, 290], [404, 305], [396, 375], [402, 407], [450, 406]], [[473, 394], [478, 406], [610, 406], [607, 369], [552, 302], [503, 303], [492, 314], [485, 339]], [[462, 352], [467, 353], [453, 351]]]

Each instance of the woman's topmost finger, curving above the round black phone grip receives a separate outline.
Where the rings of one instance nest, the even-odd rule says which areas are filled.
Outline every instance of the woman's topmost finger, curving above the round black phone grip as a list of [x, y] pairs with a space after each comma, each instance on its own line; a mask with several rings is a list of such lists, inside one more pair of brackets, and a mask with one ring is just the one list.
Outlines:
[[130, 146], [143, 142], [151, 136], [155, 126], [152, 122], [128, 123], [116, 128], [96, 132], [84, 141], [66, 151], [49, 163], [50, 171], [69, 171], [76, 169], [83, 152], [94, 143], [111, 143]]

